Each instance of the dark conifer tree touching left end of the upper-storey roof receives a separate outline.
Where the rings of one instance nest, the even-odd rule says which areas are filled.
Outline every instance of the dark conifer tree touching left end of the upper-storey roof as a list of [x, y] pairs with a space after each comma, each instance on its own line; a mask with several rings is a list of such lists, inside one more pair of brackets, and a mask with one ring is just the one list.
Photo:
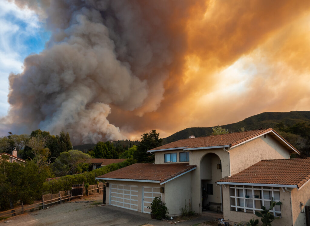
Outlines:
[[134, 158], [138, 162], [153, 162], [154, 156], [146, 151], [159, 147], [161, 144], [162, 138], [159, 138], [159, 133], [156, 133], [155, 129], [151, 130], [149, 133], [143, 133], [137, 151], [134, 152]]

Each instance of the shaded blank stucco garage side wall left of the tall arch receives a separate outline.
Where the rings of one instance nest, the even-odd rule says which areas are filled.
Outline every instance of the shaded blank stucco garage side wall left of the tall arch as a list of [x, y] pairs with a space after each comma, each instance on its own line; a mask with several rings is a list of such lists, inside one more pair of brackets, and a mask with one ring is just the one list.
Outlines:
[[165, 183], [165, 202], [169, 215], [180, 215], [180, 209], [185, 207], [185, 200], [189, 206], [189, 200], [192, 201], [190, 172]]

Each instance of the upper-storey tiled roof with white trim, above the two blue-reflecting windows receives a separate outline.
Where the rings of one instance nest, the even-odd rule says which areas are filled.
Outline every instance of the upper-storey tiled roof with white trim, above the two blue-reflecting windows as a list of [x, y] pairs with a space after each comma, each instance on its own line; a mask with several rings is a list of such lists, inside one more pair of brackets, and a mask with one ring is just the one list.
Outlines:
[[244, 132], [236, 133], [226, 133], [208, 137], [198, 137], [198, 138], [188, 138], [183, 140], [178, 140], [171, 142], [169, 144], [162, 145], [160, 147], [148, 150], [148, 152], [153, 151], [167, 151], [173, 149], [183, 149], [183, 150], [193, 150], [193, 149], [204, 149], [204, 148], [217, 148], [217, 147], [236, 147], [244, 142], [250, 141], [251, 139], [257, 138], [264, 134], [269, 133], [277, 141], [279, 141], [284, 147], [286, 147], [290, 152], [299, 151], [294, 148], [289, 142], [282, 138], [276, 131], [272, 128], [268, 129], [256, 129]]

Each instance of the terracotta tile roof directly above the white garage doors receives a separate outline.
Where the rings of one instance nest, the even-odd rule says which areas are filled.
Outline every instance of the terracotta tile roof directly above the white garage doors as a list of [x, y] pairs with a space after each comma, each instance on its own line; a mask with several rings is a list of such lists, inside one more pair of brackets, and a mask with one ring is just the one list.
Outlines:
[[135, 163], [97, 178], [157, 180], [162, 183], [194, 167], [196, 167], [196, 165], [188, 165], [188, 163]]

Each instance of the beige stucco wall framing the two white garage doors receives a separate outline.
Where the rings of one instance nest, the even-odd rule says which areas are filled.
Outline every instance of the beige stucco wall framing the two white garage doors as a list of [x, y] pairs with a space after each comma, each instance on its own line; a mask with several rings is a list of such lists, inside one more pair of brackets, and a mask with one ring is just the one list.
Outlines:
[[[131, 186], [138, 186], [138, 211], [141, 212], [142, 208], [142, 187], [155, 187], [155, 188], [160, 188], [164, 187], [165, 184], [160, 185], [159, 183], [147, 183], [147, 182], [132, 182], [132, 181], [115, 181], [115, 180], [107, 180], [109, 183], [109, 187], [107, 188], [107, 193], [106, 193], [106, 204], [110, 204], [109, 196], [110, 196], [110, 184], [121, 184], [121, 185], [131, 185]], [[165, 188], [166, 190], [166, 188]], [[165, 191], [166, 192], [166, 191]], [[162, 193], [162, 201], [165, 201], [165, 193]]]

